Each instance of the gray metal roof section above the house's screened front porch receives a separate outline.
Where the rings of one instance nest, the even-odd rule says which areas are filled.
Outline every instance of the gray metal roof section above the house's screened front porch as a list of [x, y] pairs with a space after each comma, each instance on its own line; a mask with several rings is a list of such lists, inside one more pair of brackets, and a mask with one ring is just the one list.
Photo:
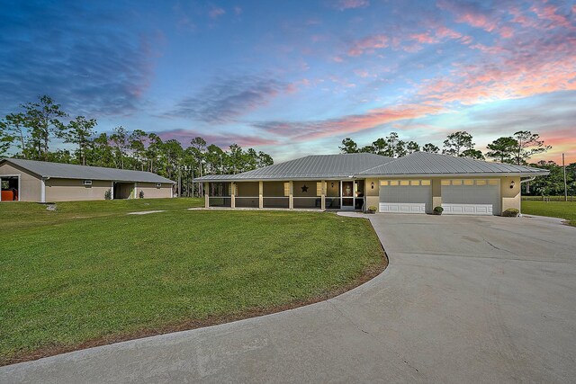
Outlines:
[[392, 157], [364, 153], [306, 156], [285, 163], [265, 166], [243, 174], [206, 175], [195, 179], [195, 181], [345, 178], [392, 160]]

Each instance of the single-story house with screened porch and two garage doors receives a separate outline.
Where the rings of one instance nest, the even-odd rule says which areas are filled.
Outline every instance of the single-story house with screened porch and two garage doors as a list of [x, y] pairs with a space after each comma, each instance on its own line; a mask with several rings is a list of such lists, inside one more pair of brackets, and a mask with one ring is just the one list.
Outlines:
[[306, 156], [204, 183], [205, 206], [500, 215], [520, 209], [520, 184], [545, 169], [415, 152]]

